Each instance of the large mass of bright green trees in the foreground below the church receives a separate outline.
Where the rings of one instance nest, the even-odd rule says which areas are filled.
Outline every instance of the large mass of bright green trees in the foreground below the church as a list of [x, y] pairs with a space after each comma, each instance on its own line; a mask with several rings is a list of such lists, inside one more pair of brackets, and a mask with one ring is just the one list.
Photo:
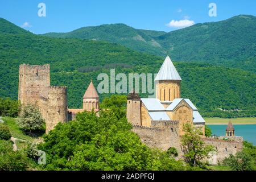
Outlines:
[[131, 132], [125, 117], [114, 111], [80, 113], [76, 121], [59, 123], [44, 136], [39, 149], [47, 154], [46, 169], [59, 170], [184, 170], [166, 152], [151, 150]]

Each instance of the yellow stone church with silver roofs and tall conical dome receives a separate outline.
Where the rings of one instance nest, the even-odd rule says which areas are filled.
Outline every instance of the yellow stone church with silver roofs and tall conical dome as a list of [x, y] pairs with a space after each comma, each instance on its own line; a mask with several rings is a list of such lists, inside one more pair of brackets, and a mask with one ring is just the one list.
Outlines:
[[165, 123], [193, 123], [204, 133], [204, 118], [188, 98], [180, 97], [181, 78], [169, 56], [155, 77], [155, 98], [140, 98], [137, 93], [127, 96], [127, 120], [135, 126], [154, 127]]

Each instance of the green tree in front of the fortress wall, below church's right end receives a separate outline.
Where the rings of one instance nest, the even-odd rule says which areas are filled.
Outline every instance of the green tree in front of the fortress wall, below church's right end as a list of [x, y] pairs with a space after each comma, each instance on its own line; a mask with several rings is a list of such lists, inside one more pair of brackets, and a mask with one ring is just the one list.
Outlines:
[[201, 131], [196, 129], [190, 123], [183, 125], [185, 134], [181, 138], [181, 144], [186, 162], [191, 166], [200, 166], [202, 160], [209, 157], [209, 152], [213, 151], [213, 146], [205, 146], [201, 140]]

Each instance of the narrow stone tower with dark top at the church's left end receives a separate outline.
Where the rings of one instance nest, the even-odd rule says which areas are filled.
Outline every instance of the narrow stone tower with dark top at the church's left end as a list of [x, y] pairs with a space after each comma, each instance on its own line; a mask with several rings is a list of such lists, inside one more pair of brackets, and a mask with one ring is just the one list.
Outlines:
[[141, 126], [141, 98], [138, 93], [129, 93], [127, 96], [127, 121]]

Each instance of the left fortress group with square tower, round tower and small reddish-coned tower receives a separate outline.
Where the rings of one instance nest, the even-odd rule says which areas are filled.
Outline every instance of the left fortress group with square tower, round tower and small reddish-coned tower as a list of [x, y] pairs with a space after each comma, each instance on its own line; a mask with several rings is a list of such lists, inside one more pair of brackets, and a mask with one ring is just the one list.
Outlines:
[[19, 66], [19, 101], [39, 107], [46, 121], [46, 133], [59, 122], [71, 121], [78, 112], [98, 111], [99, 97], [92, 81], [83, 97], [83, 109], [68, 109], [67, 87], [50, 86], [49, 71], [49, 64]]

